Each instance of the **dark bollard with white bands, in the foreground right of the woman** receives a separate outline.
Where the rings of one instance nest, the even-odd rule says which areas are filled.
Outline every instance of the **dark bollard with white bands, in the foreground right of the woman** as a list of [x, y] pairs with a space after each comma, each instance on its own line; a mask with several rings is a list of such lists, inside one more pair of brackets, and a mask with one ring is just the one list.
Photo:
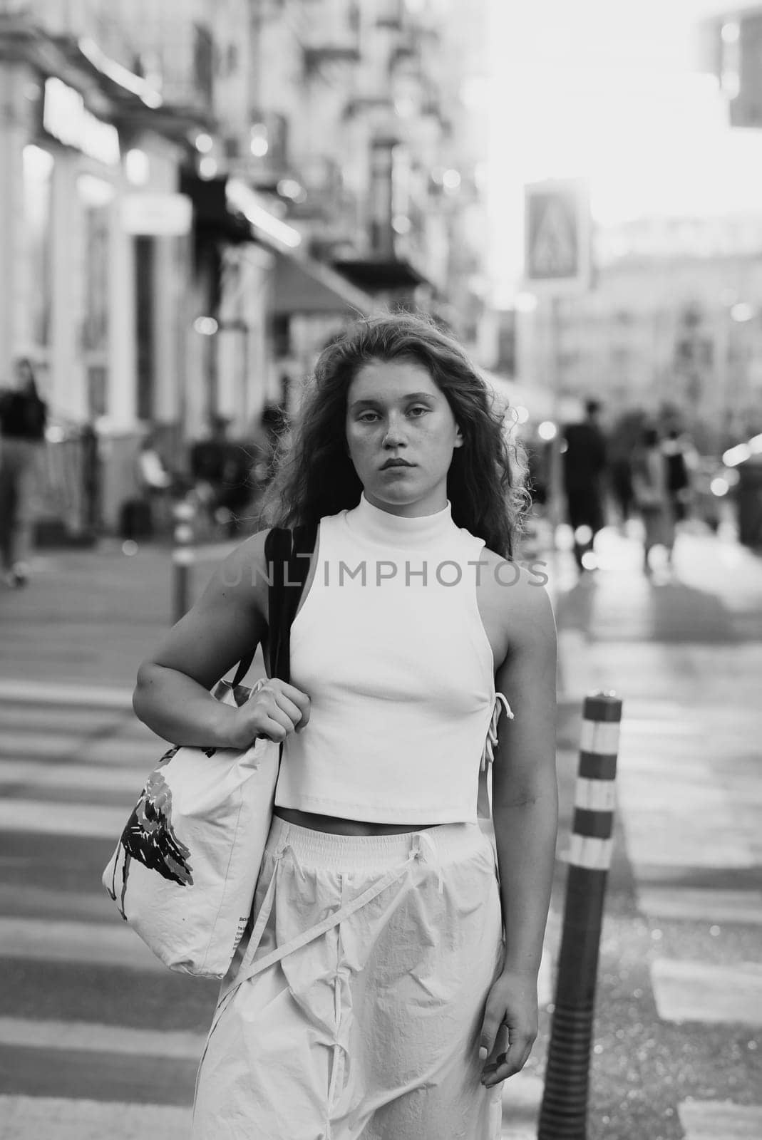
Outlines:
[[537, 1140], [585, 1140], [603, 898], [611, 864], [622, 701], [585, 698], [545, 1088]]

